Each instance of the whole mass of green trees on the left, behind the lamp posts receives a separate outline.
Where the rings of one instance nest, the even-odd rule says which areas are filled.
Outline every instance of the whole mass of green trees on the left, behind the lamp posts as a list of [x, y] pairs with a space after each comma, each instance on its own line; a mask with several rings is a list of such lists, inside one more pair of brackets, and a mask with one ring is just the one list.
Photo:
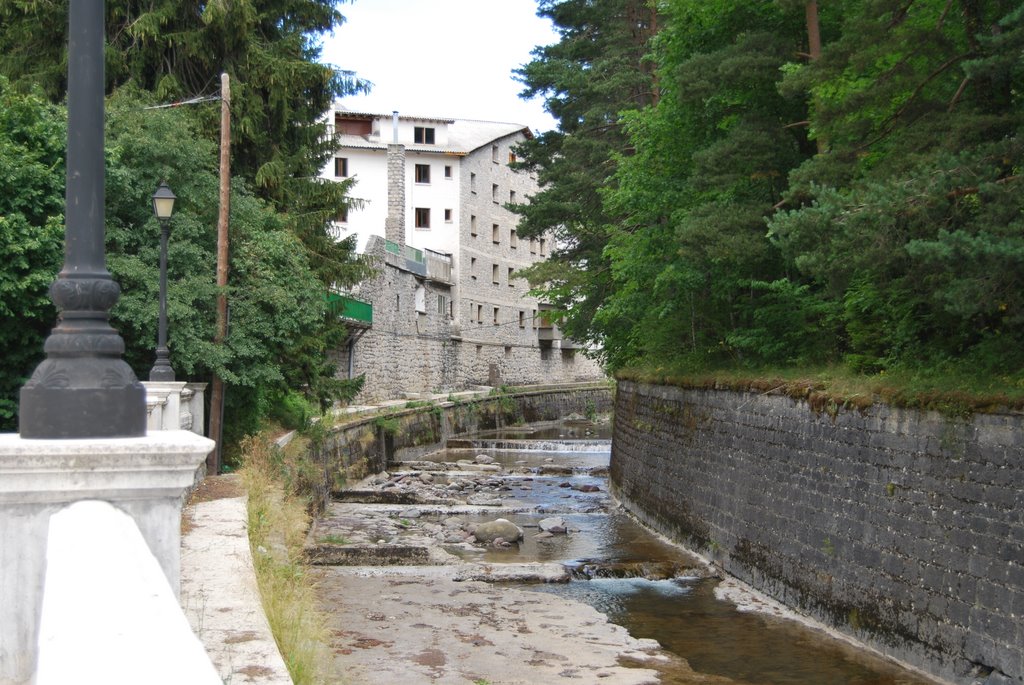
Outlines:
[[[369, 273], [330, 221], [351, 202], [348, 183], [318, 171], [331, 149], [323, 113], [366, 89], [350, 73], [317, 62], [318, 39], [343, 22], [335, 0], [158, 0], [105, 3], [108, 266], [123, 296], [112, 312], [139, 377], [156, 339], [159, 225], [150, 195], [167, 180], [179, 197], [169, 246], [171, 361], [179, 378], [218, 374], [226, 393], [225, 441], [254, 433], [288, 388], [321, 408], [350, 398], [362, 379], [336, 379], [328, 351], [347, 335], [322, 294]], [[68, 1], [0, 5], [0, 425], [55, 319], [45, 288], [59, 267]], [[216, 95], [231, 77], [230, 329], [215, 345], [214, 226], [219, 106], [143, 110]], [[16, 98], [22, 98], [20, 100]], [[32, 114], [31, 117], [26, 116]], [[8, 144], [9, 143], [9, 144]], [[24, 189], [24, 192], [20, 191]], [[15, 192], [15, 190], [18, 190]], [[10, 203], [10, 207], [6, 206]], [[6, 348], [11, 347], [8, 351]], [[229, 447], [229, 445], [228, 445]], [[229, 447], [230, 448], [230, 447]]]

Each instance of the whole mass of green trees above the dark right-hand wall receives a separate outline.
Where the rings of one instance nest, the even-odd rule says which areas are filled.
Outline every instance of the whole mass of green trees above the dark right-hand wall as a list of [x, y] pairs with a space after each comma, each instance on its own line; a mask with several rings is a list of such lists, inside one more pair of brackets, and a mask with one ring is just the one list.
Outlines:
[[816, 59], [800, 1], [669, 0], [652, 40], [555, 4], [560, 43], [521, 72], [561, 124], [525, 156], [546, 185], [524, 217], [568, 247], [530, 275], [609, 367], [1024, 383], [1018, 3], [819, 3]]

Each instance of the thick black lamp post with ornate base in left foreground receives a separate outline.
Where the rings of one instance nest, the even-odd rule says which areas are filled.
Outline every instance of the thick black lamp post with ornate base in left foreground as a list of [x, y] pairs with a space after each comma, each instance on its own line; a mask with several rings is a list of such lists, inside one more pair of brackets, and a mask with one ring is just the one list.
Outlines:
[[145, 435], [145, 388], [121, 358], [110, 325], [121, 289], [103, 246], [103, 2], [71, 0], [68, 23], [65, 264], [50, 297], [59, 310], [46, 358], [22, 388], [23, 438]]

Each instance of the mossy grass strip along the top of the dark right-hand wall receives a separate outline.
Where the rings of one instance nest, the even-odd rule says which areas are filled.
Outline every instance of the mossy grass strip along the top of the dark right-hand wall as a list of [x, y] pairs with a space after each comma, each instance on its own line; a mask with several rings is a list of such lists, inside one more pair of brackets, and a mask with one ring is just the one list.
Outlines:
[[950, 416], [1024, 410], [1024, 375], [974, 373], [958, 368], [894, 369], [858, 374], [846, 367], [720, 369], [687, 371], [666, 367], [624, 369], [616, 378], [688, 388], [719, 388], [781, 394], [820, 408], [866, 409], [874, 402], [935, 410]]

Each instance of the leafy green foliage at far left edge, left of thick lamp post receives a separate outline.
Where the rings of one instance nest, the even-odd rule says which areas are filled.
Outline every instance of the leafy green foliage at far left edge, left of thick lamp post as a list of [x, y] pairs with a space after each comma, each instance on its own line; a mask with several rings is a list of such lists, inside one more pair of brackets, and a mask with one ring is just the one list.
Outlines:
[[65, 115], [0, 77], [0, 431], [56, 322], [48, 289], [63, 255]]

